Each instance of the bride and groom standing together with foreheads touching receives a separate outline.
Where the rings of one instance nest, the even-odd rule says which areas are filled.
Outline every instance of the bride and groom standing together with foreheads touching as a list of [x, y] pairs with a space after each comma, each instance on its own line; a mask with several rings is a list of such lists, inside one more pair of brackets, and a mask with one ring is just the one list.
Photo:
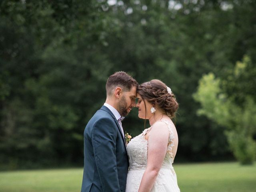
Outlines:
[[[178, 103], [170, 88], [160, 80], [138, 85], [116, 72], [106, 92], [106, 102], [84, 130], [81, 192], [180, 192], [172, 167], [178, 134], [171, 119]], [[121, 121], [135, 106], [150, 128], [126, 146]]]

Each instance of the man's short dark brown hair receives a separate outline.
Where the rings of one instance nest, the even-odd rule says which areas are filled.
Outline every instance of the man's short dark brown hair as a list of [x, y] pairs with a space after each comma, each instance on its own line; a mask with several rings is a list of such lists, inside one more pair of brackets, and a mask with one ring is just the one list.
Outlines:
[[138, 82], [134, 78], [123, 71], [115, 72], [107, 80], [107, 95], [111, 95], [112, 90], [114, 90], [116, 87], [120, 87], [124, 91], [130, 91], [132, 86], [135, 86], [136, 88], [138, 87]]

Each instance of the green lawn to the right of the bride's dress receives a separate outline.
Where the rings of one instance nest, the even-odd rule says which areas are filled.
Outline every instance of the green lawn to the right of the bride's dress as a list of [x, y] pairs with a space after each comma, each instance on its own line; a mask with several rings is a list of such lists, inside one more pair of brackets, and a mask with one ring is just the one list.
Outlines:
[[174, 164], [182, 192], [256, 192], [256, 165]]

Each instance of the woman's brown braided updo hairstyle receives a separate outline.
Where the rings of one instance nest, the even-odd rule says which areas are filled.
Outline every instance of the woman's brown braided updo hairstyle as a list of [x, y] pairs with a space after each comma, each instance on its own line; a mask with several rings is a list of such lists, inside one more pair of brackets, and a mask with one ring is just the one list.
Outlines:
[[142, 99], [146, 99], [151, 104], [155, 104], [170, 117], [175, 117], [178, 110], [178, 102], [174, 94], [168, 93], [166, 84], [162, 81], [154, 79], [149, 82], [142, 83], [138, 86], [138, 94]]

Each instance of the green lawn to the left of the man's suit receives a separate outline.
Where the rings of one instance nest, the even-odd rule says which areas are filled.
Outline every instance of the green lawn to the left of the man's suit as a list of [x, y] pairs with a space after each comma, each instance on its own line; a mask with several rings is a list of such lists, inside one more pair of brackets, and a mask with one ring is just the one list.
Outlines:
[[79, 192], [83, 170], [0, 172], [0, 192]]

